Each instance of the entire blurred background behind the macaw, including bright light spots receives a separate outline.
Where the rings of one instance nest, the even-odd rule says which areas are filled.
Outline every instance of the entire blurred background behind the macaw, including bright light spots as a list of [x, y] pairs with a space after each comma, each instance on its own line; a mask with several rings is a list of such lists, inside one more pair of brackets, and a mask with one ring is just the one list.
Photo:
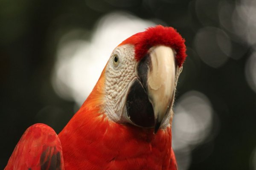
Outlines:
[[187, 46], [179, 169], [256, 170], [255, 0], [0, 0], [0, 169], [30, 125], [60, 132], [113, 48], [156, 24]]

